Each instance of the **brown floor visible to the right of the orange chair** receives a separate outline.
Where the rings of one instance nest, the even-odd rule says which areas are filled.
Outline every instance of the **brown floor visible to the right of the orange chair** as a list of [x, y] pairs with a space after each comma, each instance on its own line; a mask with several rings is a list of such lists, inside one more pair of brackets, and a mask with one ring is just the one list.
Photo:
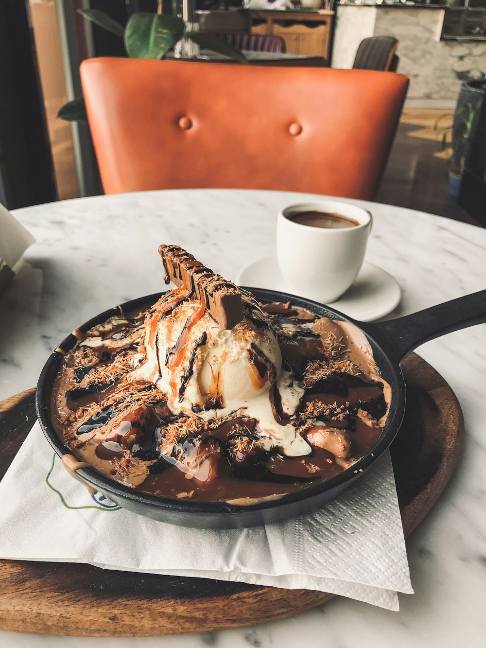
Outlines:
[[[448, 168], [434, 132], [435, 121], [445, 113], [450, 111], [417, 108], [403, 111], [378, 201], [485, 227], [486, 221], [478, 222], [448, 196]], [[452, 117], [444, 119], [441, 126], [451, 120]]]

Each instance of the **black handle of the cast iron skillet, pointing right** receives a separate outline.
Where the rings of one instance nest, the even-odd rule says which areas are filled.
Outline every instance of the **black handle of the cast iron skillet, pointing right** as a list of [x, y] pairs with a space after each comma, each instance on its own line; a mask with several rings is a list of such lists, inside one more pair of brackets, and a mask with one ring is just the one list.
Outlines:
[[402, 318], [360, 326], [398, 363], [424, 342], [484, 322], [486, 290], [480, 290]]

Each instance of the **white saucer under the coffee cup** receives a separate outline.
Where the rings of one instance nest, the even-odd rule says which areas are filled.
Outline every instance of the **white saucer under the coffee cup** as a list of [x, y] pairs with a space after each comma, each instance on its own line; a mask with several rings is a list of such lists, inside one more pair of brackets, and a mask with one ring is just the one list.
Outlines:
[[[236, 283], [240, 286], [289, 292], [275, 256], [249, 263], [238, 272]], [[382, 318], [397, 307], [399, 302], [400, 287], [395, 279], [372, 263], [364, 262], [353, 285], [338, 301], [328, 306], [340, 310], [350, 318], [369, 322]]]

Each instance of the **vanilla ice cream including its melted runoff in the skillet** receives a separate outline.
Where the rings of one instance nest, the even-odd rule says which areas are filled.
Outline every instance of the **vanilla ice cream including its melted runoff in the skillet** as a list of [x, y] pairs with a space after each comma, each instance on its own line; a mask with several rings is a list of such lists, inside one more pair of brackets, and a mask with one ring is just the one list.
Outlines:
[[311, 452], [295, 427], [275, 420], [270, 389], [276, 385], [286, 413], [293, 414], [303, 394], [282, 369], [279, 341], [266, 316], [244, 318], [225, 330], [200, 305], [182, 302], [168, 314], [152, 314], [145, 332], [146, 361], [135, 378], [154, 382], [167, 394], [174, 413], [206, 420], [231, 413], [255, 417], [266, 446], [286, 454]]

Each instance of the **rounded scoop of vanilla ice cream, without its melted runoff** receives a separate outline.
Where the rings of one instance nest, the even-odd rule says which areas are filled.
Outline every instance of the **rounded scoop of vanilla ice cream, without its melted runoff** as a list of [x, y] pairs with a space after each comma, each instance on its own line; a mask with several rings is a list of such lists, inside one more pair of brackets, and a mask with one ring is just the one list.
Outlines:
[[170, 392], [171, 408], [204, 409], [219, 400], [224, 409], [235, 400], [251, 400], [268, 392], [282, 368], [273, 330], [259, 329], [246, 318], [233, 329], [224, 330], [208, 312], [187, 327], [188, 318], [197, 309], [194, 303], [182, 303], [174, 315], [159, 321], [157, 386]]

